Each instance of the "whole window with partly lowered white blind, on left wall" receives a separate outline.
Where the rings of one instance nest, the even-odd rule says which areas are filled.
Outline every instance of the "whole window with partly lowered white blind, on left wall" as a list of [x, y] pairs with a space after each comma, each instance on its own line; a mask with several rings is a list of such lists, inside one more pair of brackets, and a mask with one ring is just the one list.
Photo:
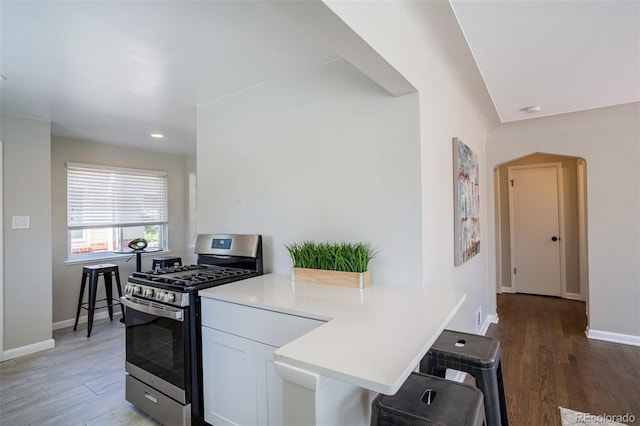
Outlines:
[[67, 163], [70, 260], [126, 251], [144, 238], [165, 249], [167, 173]]

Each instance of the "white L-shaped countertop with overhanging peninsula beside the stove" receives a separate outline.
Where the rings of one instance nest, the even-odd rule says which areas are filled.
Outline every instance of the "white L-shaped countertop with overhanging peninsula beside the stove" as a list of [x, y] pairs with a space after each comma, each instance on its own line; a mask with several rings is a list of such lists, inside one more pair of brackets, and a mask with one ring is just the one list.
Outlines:
[[281, 363], [395, 394], [465, 295], [371, 285], [364, 290], [268, 274], [200, 291], [208, 297], [327, 321], [279, 348]]

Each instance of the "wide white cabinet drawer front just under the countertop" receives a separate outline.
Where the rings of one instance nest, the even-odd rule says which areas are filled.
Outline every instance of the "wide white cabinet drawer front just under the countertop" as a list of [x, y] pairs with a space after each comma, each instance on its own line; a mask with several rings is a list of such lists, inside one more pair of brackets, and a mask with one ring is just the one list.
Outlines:
[[281, 347], [324, 321], [202, 298], [202, 326]]

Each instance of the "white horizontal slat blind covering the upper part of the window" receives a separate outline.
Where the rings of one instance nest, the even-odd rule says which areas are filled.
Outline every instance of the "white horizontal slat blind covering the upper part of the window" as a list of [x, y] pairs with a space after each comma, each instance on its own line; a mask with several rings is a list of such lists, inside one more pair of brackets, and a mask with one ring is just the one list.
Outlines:
[[69, 229], [167, 222], [167, 173], [67, 163]]

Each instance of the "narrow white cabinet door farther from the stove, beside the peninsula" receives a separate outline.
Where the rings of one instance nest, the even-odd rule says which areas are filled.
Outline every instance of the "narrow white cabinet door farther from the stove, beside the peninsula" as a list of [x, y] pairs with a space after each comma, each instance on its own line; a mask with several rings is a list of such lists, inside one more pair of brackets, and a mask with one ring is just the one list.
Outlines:
[[282, 425], [282, 379], [273, 363], [275, 346], [256, 343], [256, 382], [258, 386], [258, 424]]

